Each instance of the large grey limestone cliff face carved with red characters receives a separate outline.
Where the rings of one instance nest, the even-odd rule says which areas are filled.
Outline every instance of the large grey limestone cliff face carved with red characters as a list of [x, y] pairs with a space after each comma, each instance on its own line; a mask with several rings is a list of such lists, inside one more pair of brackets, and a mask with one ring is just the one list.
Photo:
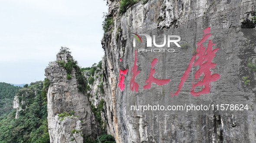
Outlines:
[[[249, 73], [245, 62], [249, 58], [255, 58], [255, 48], [242, 48], [243, 43], [236, 38], [243, 37], [244, 34], [230, 32], [251, 25], [250, 20], [256, 11], [255, 0], [148, 0], [146, 4], [139, 2], [128, 7], [122, 15], [118, 14], [119, 0], [107, 0], [107, 3], [114, 25], [102, 40], [105, 51], [104, 100], [107, 133], [112, 134], [117, 143], [255, 142], [255, 83], [245, 85], [242, 79], [246, 72]], [[216, 28], [212, 35], [219, 34], [213, 37], [214, 42], [223, 39], [214, 47], [220, 48], [214, 58], [214, 63], [217, 63], [214, 72], [221, 75], [220, 79], [211, 84], [211, 93], [194, 97], [190, 94], [194, 77], [190, 76], [181, 93], [171, 97], [170, 92], [176, 91], [192, 57], [191, 52], [203, 36], [202, 30], [207, 27]], [[135, 49], [131, 48], [132, 44], [128, 39], [136, 28], [192, 29], [193, 33], [190, 35], [192, 38], [187, 36], [185, 39], [191, 45], [187, 50], [176, 49], [175, 53], [162, 55], [137, 53], [140, 75], [136, 77], [136, 82], [140, 85], [139, 93], [129, 89]], [[185, 37], [184, 34], [182, 36]], [[143, 90], [153, 58], [159, 60], [155, 76], [159, 79], [171, 79], [171, 82], [164, 86], [152, 84], [151, 90]], [[123, 91], [118, 87], [120, 68], [128, 68]], [[192, 68], [191, 75], [196, 70], [198, 68]], [[251, 81], [253, 80], [254, 76]], [[130, 111], [131, 105], [201, 104], [206, 101], [217, 104], [227, 100], [230, 100], [229, 104], [247, 103], [251, 107], [250, 111], [232, 114], [219, 111], [201, 115]]]

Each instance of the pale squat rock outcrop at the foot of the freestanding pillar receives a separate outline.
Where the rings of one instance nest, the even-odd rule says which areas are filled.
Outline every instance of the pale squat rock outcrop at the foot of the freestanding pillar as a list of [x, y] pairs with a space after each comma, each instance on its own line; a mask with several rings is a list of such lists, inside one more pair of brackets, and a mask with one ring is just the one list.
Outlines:
[[62, 120], [56, 115], [54, 119], [52, 124], [56, 129], [51, 132], [51, 143], [83, 143], [82, 125], [78, 117], [72, 115]]

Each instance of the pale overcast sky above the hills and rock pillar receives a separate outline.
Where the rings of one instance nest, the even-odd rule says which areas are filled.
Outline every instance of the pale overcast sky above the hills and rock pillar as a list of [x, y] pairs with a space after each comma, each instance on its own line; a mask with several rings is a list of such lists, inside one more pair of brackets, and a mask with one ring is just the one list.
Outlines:
[[61, 46], [81, 67], [104, 55], [104, 0], [0, 0], [0, 82], [44, 80]]

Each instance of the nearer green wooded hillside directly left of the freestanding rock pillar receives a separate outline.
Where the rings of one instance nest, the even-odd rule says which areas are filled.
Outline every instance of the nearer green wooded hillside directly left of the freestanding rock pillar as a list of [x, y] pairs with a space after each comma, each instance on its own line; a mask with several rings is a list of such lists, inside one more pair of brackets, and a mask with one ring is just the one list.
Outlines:
[[0, 117], [0, 143], [49, 143], [47, 106], [43, 105], [42, 81], [19, 90], [18, 99], [25, 101], [24, 111], [16, 109]]

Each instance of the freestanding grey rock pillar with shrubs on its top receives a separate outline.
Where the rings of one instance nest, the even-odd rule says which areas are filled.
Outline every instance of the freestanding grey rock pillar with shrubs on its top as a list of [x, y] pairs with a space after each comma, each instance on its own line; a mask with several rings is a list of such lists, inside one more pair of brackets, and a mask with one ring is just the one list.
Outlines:
[[[45, 69], [45, 76], [51, 81], [47, 94], [47, 108], [49, 135], [52, 143], [57, 143], [60, 136], [63, 136], [63, 139], [67, 134], [70, 134], [70, 130], [65, 129], [76, 127], [78, 120], [81, 121], [79, 124], [81, 124], [84, 137], [91, 136], [95, 138], [97, 134], [100, 133], [100, 127], [95, 121], [94, 114], [91, 112], [91, 104], [87, 94], [78, 90], [79, 83], [76, 77], [79, 77], [79, 75], [77, 71], [75, 68], [71, 68], [71, 73], [69, 73], [71, 77], [68, 79], [67, 71], [61, 66], [61, 64], [63, 65], [72, 61], [74, 62], [72, 56], [68, 53], [57, 54], [57, 60], [52, 62], [51, 65]], [[75, 112], [75, 116], [78, 116], [78, 120], [69, 119], [67, 121], [65, 120], [65, 123], [59, 121], [60, 119], [58, 119], [56, 115], [70, 111]], [[65, 124], [65, 127], [60, 127], [58, 123]], [[72, 127], [67, 127], [71, 124], [73, 124]], [[62, 134], [59, 134], [59, 130], [61, 130]], [[66, 141], [68, 142], [68, 140]]]

